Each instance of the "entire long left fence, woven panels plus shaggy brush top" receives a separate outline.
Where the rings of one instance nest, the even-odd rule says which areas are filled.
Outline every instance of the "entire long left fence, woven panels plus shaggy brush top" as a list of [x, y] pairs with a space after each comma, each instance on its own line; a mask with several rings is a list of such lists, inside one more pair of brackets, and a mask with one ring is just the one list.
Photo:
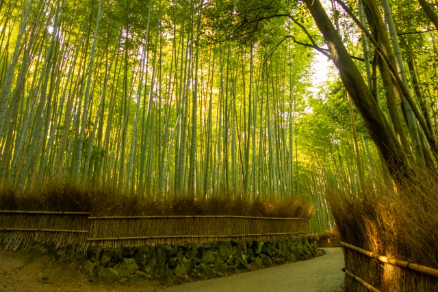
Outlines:
[[194, 200], [178, 194], [157, 201], [87, 182], [47, 183], [23, 191], [0, 185], [0, 246], [16, 250], [46, 245], [78, 253], [89, 245], [294, 237], [310, 233], [313, 211], [311, 203], [292, 198], [249, 200], [223, 194]]

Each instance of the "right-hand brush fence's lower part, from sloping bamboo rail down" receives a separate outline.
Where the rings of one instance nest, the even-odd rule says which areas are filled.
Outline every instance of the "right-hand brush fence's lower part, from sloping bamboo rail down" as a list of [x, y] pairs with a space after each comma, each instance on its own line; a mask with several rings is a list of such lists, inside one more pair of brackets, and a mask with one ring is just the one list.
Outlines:
[[[357, 285], [348, 284], [350, 292], [438, 291], [438, 269], [388, 258], [343, 241], [339, 243], [346, 248], [344, 252], [345, 272], [348, 275], [348, 281], [358, 283]], [[376, 270], [380, 272], [376, 273]], [[376, 274], [378, 278], [371, 277]], [[406, 280], [408, 278], [409, 281]], [[379, 290], [379, 287], [385, 288]]]

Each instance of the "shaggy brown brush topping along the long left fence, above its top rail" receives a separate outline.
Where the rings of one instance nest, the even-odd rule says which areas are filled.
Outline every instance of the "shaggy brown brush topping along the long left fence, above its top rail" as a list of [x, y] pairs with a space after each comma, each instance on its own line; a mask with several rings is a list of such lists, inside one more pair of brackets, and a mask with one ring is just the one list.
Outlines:
[[289, 217], [309, 220], [314, 212], [310, 202], [292, 198], [250, 200], [232, 194], [196, 200], [185, 194], [172, 194], [156, 200], [153, 194], [126, 196], [108, 186], [64, 181], [49, 182], [18, 191], [0, 186], [1, 210], [81, 211], [93, 216], [135, 215], [239, 215]]

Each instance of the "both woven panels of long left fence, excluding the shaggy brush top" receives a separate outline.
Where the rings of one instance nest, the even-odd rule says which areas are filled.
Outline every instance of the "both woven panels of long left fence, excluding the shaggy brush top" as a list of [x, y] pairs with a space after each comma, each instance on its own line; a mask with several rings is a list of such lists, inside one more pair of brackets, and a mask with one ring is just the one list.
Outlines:
[[0, 211], [4, 248], [54, 245], [83, 252], [88, 245], [105, 248], [218, 240], [271, 239], [310, 234], [302, 218], [235, 215], [155, 215], [92, 217], [88, 212]]

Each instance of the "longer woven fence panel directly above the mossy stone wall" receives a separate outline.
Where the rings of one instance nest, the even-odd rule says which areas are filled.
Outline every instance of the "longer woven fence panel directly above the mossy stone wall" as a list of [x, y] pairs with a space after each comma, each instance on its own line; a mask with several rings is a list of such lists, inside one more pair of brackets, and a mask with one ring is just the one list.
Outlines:
[[300, 218], [205, 216], [89, 217], [91, 245], [105, 248], [218, 240], [281, 239], [310, 233]]

